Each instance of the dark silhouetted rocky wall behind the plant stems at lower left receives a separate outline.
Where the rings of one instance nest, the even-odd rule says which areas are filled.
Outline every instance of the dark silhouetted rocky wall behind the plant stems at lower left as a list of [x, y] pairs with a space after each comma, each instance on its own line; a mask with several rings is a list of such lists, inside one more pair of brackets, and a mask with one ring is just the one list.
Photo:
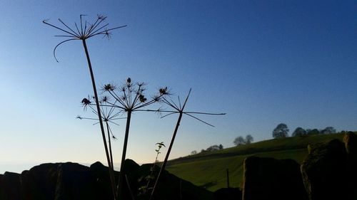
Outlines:
[[[152, 165], [139, 166], [132, 160], [126, 161], [124, 172], [136, 199], [140, 186], [146, 185], [146, 177]], [[156, 167], [157, 171], [159, 167]], [[116, 179], [119, 172], [116, 172]], [[128, 186], [124, 199], [131, 199]], [[0, 200], [69, 200], [69, 199], [112, 199], [108, 168], [100, 162], [91, 167], [66, 162], [41, 164], [21, 174], [5, 172], [0, 175]], [[162, 175], [155, 199], [213, 199], [210, 191], [194, 186], [165, 172]]]

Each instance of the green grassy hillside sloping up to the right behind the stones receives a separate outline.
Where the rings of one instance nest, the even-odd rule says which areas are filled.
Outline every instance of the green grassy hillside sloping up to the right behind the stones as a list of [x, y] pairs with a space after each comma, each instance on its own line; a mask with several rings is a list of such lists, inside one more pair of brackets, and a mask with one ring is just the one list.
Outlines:
[[230, 186], [241, 187], [243, 160], [248, 156], [294, 159], [301, 163], [308, 154], [308, 144], [332, 139], [342, 140], [342, 138], [343, 134], [333, 134], [265, 140], [216, 152], [204, 152], [173, 159], [166, 169], [181, 179], [191, 181], [210, 191], [227, 186], [226, 169], [228, 169]]

